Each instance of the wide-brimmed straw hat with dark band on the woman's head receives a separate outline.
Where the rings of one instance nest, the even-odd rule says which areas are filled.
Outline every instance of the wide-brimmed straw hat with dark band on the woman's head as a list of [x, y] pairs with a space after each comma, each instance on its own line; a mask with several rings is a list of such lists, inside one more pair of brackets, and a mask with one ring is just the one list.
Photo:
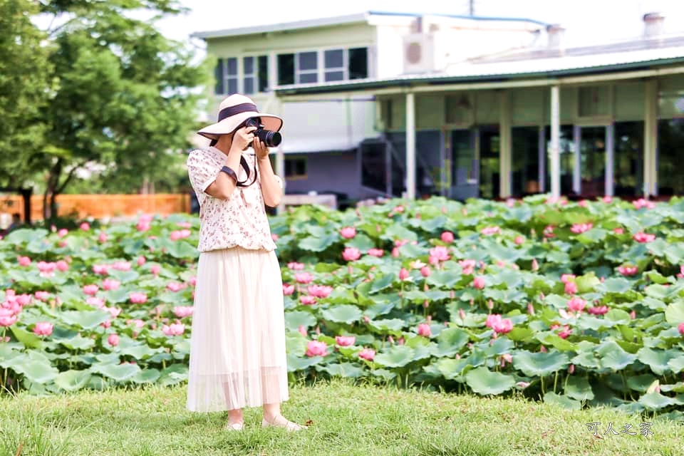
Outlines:
[[283, 127], [283, 120], [277, 115], [259, 113], [251, 98], [234, 93], [224, 98], [219, 105], [217, 122], [202, 128], [197, 134], [215, 140], [221, 135], [233, 133], [240, 124], [252, 117], [261, 118], [264, 130], [279, 131]]

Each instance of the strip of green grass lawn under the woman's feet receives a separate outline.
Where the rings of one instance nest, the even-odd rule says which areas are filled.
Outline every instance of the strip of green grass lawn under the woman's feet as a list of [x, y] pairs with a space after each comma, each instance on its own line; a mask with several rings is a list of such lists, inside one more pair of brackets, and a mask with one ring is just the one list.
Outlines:
[[[684, 426], [609, 408], [568, 411], [529, 400], [398, 390], [347, 380], [295, 385], [283, 413], [304, 432], [243, 432], [226, 413], [185, 410], [185, 385], [0, 399], [1, 456], [65, 455], [684, 455]], [[640, 434], [644, 421], [652, 435]], [[598, 436], [586, 423], [600, 422]], [[626, 423], [636, 435], [613, 435]]]

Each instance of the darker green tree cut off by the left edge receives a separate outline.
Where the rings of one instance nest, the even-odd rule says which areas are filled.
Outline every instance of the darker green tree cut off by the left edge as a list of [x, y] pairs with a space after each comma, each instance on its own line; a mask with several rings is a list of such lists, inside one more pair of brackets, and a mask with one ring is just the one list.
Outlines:
[[0, 0], [0, 187], [30, 184], [51, 90], [46, 38], [31, 22], [35, 2]]

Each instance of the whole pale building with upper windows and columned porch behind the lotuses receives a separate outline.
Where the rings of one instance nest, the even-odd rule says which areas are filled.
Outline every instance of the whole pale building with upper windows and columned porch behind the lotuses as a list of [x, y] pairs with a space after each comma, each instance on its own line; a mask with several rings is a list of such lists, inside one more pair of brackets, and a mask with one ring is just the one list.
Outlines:
[[219, 96], [286, 119], [286, 191], [684, 194], [684, 34], [572, 48], [529, 19], [368, 12], [196, 33]]

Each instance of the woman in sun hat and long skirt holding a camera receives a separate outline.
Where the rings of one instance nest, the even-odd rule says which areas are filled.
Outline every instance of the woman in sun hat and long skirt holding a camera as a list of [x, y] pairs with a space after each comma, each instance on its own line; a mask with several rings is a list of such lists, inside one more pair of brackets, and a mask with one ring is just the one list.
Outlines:
[[242, 408], [262, 405], [264, 427], [301, 430], [280, 412], [289, 398], [283, 286], [264, 204], [276, 207], [283, 185], [256, 128], [244, 126], [255, 118], [266, 130], [283, 124], [230, 95], [218, 122], [198, 132], [212, 145], [187, 158], [200, 207], [187, 408], [228, 410], [226, 428], [242, 430]]

